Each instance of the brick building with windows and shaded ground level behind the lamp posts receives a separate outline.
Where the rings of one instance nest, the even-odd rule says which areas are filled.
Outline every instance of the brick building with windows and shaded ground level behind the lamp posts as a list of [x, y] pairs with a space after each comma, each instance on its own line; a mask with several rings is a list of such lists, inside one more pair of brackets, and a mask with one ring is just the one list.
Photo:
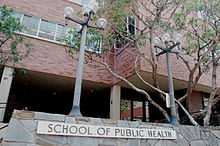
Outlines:
[[[0, 66], [1, 121], [3, 119], [7, 121], [14, 109], [69, 113], [77, 64], [77, 59], [74, 58], [77, 58], [78, 52], [71, 57], [62, 43], [65, 35], [63, 10], [66, 6], [79, 10], [82, 4], [81, 0], [0, 1], [0, 5], [7, 5], [15, 10], [15, 17], [27, 28], [18, 33], [25, 36], [33, 47], [28, 57], [21, 62]], [[134, 73], [135, 56], [132, 49], [118, 48], [114, 53], [101, 55], [117, 73], [138, 87], [148, 90], [152, 98], [157, 100], [157, 95]], [[152, 82], [151, 66], [143, 60], [138, 63], [141, 75], [145, 80]], [[178, 97], [186, 90], [188, 73], [185, 65], [174, 56], [172, 65], [175, 95]], [[159, 60], [158, 73], [161, 89], [168, 91], [164, 56]], [[102, 65], [96, 62], [86, 63], [83, 79], [81, 111], [84, 116], [120, 119], [120, 99], [122, 99], [121, 101], [128, 101], [130, 112], [136, 110], [142, 112], [137, 114], [136, 118], [136, 114], [129, 114], [130, 120], [160, 120], [159, 112], [155, 114], [155, 109], [147, 103], [143, 95], [114, 78]], [[210, 91], [210, 79], [209, 75], [202, 76], [189, 99], [187, 106], [190, 112], [198, 112], [204, 108], [204, 97]], [[139, 106], [134, 106], [134, 102], [139, 102]]]

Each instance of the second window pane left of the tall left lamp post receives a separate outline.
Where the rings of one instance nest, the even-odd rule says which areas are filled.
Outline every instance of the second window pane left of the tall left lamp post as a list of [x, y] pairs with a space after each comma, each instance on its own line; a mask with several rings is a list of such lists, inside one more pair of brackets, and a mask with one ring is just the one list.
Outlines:
[[40, 30], [39, 37], [47, 38], [50, 40], [54, 40], [56, 31], [56, 24], [48, 22], [47, 20], [41, 20], [40, 22]]

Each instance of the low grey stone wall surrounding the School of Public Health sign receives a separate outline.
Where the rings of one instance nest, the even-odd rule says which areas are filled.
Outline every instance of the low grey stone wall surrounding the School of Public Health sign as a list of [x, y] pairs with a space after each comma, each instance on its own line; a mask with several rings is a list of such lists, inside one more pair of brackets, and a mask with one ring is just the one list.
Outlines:
[[[176, 140], [87, 138], [68, 136], [47, 136], [36, 134], [37, 120], [54, 122], [118, 126], [131, 128], [172, 128], [177, 133]], [[3, 137], [2, 146], [220, 146], [220, 130], [203, 129], [192, 126], [171, 126], [142, 122], [112, 121], [94, 118], [72, 118], [39, 112], [15, 111]]]

